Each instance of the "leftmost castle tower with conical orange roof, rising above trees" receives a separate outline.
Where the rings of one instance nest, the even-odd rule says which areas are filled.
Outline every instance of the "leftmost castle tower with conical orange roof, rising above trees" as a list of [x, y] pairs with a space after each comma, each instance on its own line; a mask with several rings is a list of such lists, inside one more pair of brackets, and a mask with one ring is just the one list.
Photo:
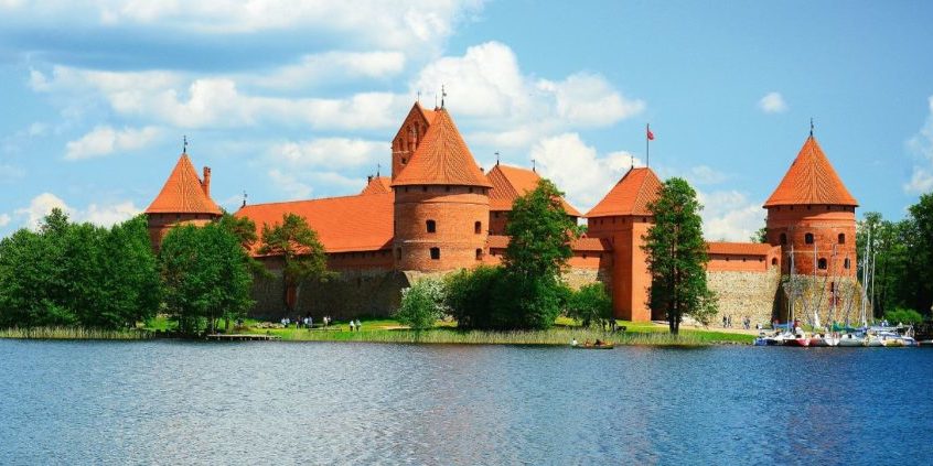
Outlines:
[[211, 199], [211, 169], [204, 167], [204, 180], [197, 177], [186, 153], [172, 170], [156, 201], [146, 209], [149, 238], [157, 251], [165, 234], [176, 225], [205, 225], [222, 215]]

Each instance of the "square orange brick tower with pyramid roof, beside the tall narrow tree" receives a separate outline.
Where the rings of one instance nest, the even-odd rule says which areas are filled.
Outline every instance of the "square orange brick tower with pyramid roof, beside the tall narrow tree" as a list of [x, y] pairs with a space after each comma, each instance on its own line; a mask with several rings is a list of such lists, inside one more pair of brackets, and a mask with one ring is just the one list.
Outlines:
[[[661, 180], [648, 167], [631, 169], [585, 216], [587, 236], [612, 245], [612, 310], [616, 318], [651, 321], [644, 240], [654, 223], [647, 205], [657, 198]], [[661, 316], [659, 318], [663, 318]]]

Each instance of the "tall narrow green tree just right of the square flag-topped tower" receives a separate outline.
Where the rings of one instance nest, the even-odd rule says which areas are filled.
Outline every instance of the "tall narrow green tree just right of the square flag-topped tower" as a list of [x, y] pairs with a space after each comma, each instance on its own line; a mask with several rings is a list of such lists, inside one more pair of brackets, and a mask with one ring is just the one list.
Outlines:
[[644, 238], [643, 250], [652, 278], [651, 308], [667, 316], [675, 335], [685, 315], [705, 315], [715, 308], [706, 283], [709, 258], [701, 208], [694, 188], [678, 177], [664, 182], [657, 199], [648, 204], [654, 225]]

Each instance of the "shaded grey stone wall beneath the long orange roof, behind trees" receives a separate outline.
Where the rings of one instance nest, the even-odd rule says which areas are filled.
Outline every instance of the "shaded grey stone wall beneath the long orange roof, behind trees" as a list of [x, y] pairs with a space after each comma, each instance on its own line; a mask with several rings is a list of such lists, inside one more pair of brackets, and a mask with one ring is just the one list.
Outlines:
[[[279, 321], [286, 316], [282, 305], [282, 281], [277, 270], [272, 277], [257, 277], [253, 284], [250, 317]], [[388, 316], [398, 308], [401, 289], [408, 286], [404, 273], [385, 270], [350, 270], [324, 282], [305, 282], [299, 286], [293, 314], [314, 318], [330, 315], [333, 318], [360, 316]], [[294, 318], [296, 315], [289, 316]]]

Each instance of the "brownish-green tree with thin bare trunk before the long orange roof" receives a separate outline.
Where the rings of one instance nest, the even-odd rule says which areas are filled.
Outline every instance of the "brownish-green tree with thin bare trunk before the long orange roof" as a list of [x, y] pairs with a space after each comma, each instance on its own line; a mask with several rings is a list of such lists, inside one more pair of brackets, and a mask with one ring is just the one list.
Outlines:
[[262, 226], [262, 242], [259, 253], [275, 256], [281, 260], [282, 305], [289, 315], [294, 311], [289, 293], [294, 290], [296, 302], [299, 286], [304, 280], [326, 280], [328, 258], [324, 247], [304, 217], [285, 214], [282, 223]]

